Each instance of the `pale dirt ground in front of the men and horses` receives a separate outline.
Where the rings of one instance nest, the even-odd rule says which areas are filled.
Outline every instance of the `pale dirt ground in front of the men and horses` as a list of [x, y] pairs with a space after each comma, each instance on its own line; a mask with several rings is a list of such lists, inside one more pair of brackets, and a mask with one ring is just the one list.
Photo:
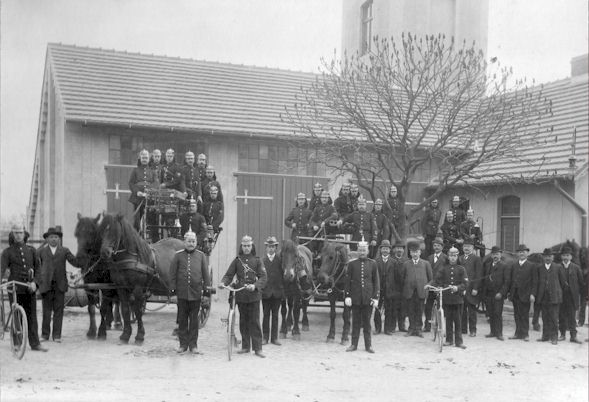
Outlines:
[[[479, 315], [478, 335], [465, 338], [466, 350], [434, 349], [424, 339], [373, 336], [376, 353], [363, 348], [346, 353], [339, 342], [326, 343], [328, 309], [310, 309], [311, 331], [300, 341], [281, 340], [264, 347], [266, 359], [235, 355], [227, 361], [226, 296], [213, 303], [201, 330], [203, 355], [177, 355], [171, 336], [176, 307], [166, 306], [145, 317], [142, 346], [121, 345], [119, 332], [106, 341], [88, 340], [85, 308], [68, 307], [63, 342], [46, 342], [49, 352], [27, 350], [22, 360], [10, 354], [10, 341], [0, 341], [2, 401], [587, 401], [588, 343], [558, 346], [535, 342], [485, 339], [489, 326]], [[157, 307], [150, 303], [148, 308]], [[38, 303], [38, 309], [41, 305]], [[41, 317], [39, 316], [39, 323]], [[513, 317], [504, 314], [504, 334], [514, 332]], [[341, 318], [337, 322], [338, 336]], [[579, 328], [587, 338], [587, 326]]]

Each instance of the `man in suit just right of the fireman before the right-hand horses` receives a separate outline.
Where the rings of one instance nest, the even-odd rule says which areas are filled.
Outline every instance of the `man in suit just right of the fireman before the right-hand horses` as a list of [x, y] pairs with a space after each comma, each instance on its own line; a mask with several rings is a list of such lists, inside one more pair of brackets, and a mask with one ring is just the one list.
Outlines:
[[[391, 242], [383, 240], [379, 246], [380, 253], [376, 256], [376, 267], [378, 268], [378, 278], [380, 279], [380, 299], [378, 302], [378, 308], [384, 307], [385, 319], [384, 319], [384, 333], [386, 335], [392, 335], [394, 331], [394, 323], [392, 320], [392, 287], [395, 282], [394, 271], [393, 271], [393, 259], [391, 258]], [[390, 291], [387, 294], [387, 285], [390, 287]], [[387, 297], [388, 296], [388, 297]], [[374, 314], [374, 332], [380, 334], [382, 331], [382, 319], [381, 315]]]

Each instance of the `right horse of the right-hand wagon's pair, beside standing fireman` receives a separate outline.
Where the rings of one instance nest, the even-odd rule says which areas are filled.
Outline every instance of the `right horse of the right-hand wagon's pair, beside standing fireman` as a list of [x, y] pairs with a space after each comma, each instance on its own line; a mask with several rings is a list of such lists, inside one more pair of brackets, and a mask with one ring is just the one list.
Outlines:
[[[321, 267], [317, 279], [322, 284], [320, 289], [327, 288], [329, 299], [329, 334], [327, 342], [335, 339], [335, 303], [344, 298], [344, 279], [348, 267], [348, 250], [342, 243], [326, 241], [321, 249]], [[342, 318], [344, 327], [342, 330], [341, 344], [344, 345], [349, 340], [350, 334], [350, 312], [351, 308], [344, 306]]]

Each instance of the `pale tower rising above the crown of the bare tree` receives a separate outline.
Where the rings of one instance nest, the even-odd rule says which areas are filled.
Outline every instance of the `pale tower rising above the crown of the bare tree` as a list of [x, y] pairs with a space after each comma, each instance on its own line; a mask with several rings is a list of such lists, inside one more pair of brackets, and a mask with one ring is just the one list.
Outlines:
[[370, 38], [444, 34], [487, 51], [489, 0], [346, 0], [342, 49], [365, 54]]

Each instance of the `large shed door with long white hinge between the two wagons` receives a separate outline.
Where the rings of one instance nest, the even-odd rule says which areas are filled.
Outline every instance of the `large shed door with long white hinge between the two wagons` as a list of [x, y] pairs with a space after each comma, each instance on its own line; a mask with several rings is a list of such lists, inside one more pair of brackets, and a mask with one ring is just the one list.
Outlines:
[[270, 235], [288, 239], [290, 230], [284, 219], [295, 206], [296, 196], [304, 192], [311, 199], [313, 184], [327, 188], [328, 178], [237, 173], [237, 240], [244, 234], [253, 237], [258, 255]]

